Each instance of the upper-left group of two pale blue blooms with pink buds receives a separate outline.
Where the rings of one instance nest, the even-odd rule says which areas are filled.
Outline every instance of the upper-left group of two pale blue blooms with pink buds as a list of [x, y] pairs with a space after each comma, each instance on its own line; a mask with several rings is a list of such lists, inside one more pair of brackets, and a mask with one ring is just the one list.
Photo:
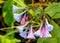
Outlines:
[[[20, 14], [17, 14], [17, 13], [15, 13], [17, 10], [24, 10], [24, 11]], [[25, 7], [17, 7], [15, 5], [13, 5], [14, 19], [22, 25], [25, 24], [26, 20], [28, 20], [28, 16], [26, 15], [26, 12], [27, 12], [27, 10], [25, 9]]]

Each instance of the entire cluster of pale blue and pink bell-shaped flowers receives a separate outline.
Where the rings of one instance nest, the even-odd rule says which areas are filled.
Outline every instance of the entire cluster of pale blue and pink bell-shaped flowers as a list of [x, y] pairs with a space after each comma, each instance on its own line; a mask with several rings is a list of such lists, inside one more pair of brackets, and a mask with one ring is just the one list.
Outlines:
[[[51, 34], [49, 33], [50, 31], [53, 30], [53, 26], [51, 24], [48, 23], [48, 20], [45, 18], [45, 22], [43, 22], [39, 29], [37, 31], [34, 31], [33, 26], [30, 25], [30, 27], [28, 28], [28, 24], [29, 22], [25, 22], [26, 20], [28, 20], [28, 16], [26, 15], [26, 9], [20, 13], [20, 14], [16, 14], [15, 12], [18, 9], [25, 9], [25, 8], [18, 8], [15, 5], [13, 5], [13, 14], [14, 14], [14, 19], [19, 22], [20, 24], [23, 24], [21, 26], [16, 26], [16, 29], [19, 31], [19, 35], [25, 39], [35, 39], [36, 37], [52, 37]], [[22, 17], [23, 16], [23, 17]], [[27, 28], [24, 31], [24, 27]], [[29, 30], [29, 31], [28, 31]]]

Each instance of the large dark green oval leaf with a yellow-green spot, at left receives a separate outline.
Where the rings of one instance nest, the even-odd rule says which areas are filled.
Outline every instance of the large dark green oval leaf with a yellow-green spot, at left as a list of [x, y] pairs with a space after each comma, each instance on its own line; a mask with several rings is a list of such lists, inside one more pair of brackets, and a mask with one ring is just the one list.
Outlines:
[[4, 22], [8, 26], [11, 26], [14, 21], [13, 13], [12, 13], [12, 4], [13, 4], [13, 0], [7, 0], [7, 2], [3, 6], [3, 18], [4, 18]]

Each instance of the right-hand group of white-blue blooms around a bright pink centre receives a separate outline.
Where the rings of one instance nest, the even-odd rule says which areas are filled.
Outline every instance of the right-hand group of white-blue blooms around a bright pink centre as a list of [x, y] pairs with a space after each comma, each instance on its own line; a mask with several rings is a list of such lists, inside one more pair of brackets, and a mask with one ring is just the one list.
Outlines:
[[[51, 28], [50, 28], [51, 27]], [[46, 22], [41, 24], [39, 30], [37, 30], [34, 35], [37, 37], [52, 37], [49, 31], [51, 31], [52, 25], [47, 24]]]

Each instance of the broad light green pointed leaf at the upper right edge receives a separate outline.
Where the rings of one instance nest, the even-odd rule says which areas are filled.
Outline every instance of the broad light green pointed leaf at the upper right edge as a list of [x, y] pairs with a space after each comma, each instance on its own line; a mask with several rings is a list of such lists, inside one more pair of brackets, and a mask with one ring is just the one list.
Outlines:
[[58, 16], [58, 15], [60, 15], [60, 2], [59, 3], [52, 3], [44, 11], [53, 19], [60, 18], [60, 16]]

